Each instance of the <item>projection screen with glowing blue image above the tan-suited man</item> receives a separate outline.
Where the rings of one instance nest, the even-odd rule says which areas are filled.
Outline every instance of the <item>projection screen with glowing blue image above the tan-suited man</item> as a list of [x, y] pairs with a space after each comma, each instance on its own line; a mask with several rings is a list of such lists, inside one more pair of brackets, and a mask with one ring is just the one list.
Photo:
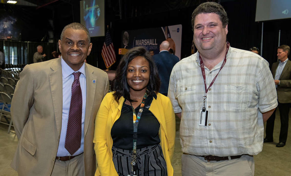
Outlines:
[[104, 0], [80, 1], [81, 24], [87, 27], [91, 37], [104, 36]]

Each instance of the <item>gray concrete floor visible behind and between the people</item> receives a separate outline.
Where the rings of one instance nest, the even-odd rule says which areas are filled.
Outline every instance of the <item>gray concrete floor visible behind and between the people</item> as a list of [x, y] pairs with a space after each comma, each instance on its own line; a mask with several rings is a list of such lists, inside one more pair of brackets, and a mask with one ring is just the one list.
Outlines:
[[[291, 117], [291, 111], [289, 114]], [[266, 125], [266, 124], [265, 124]], [[291, 120], [289, 120], [291, 126]], [[176, 140], [173, 156], [174, 176], [182, 176], [181, 174], [181, 145], [179, 137], [180, 119], [176, 119]], [[1, 176], [17, 176], [17, 172], [10, 168], [15, 149], [17, 147], [17, 137], [12, 131], [8, 134], [8, 125], [0, 124], [0, 175]], [[280, 133], [280, 115], [276, 112], [274, 127], [274, 142], [265, 143], [260, 154], [254, 156], [255, 159], [255, 176], [286, 176], [291, 175], [291, 130], [289, 130], [289, 138], [284, 147], [276, 147], [279, 142]]]

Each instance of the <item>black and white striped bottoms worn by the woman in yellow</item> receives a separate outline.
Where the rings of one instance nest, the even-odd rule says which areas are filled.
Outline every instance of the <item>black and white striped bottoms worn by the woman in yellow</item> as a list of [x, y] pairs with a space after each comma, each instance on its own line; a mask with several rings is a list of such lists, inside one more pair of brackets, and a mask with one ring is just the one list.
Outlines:
[[[119, 176], [127, 176], [131, 170], [132, 150], [123, 150], [112, 147], [113, 163]], [[167, 166], [162, 147], [148, 146], [136, 150], [138, 176], [167, 176]]]

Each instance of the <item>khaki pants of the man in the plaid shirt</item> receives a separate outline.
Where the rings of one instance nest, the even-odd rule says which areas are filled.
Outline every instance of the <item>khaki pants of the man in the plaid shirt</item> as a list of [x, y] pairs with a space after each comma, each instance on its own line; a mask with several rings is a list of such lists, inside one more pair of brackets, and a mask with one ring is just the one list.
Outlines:
[[238, 159], [207, 161], [203, 157], [182, 154], [182, 176], [253, 176], [255, 163], [252, 156]]

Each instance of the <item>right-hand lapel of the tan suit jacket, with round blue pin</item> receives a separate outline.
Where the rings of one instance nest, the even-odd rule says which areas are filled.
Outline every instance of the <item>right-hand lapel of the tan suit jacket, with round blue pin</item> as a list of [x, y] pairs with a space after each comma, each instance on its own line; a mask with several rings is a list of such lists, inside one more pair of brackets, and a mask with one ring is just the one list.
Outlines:
[[[85, 109], [85, 119], [84, 119], [84, 136], [86, 136], [86, 133], [88, 131], [89, 122], [92, 114], [92, 108], [94, 105], [94, 97], [95, 97], [95, 91], [97, 86], [97, 76], [93, 75], [93, 70], [89, 68], [85, 64], [85, 73], [86, 73], [86, 109]], [[96, 81], [96, 83], [93, 83], [93, 80]], [[97, 86], [98, 89], [98, 86]], [[102, 90], [101, 88], [99, 89]]]

